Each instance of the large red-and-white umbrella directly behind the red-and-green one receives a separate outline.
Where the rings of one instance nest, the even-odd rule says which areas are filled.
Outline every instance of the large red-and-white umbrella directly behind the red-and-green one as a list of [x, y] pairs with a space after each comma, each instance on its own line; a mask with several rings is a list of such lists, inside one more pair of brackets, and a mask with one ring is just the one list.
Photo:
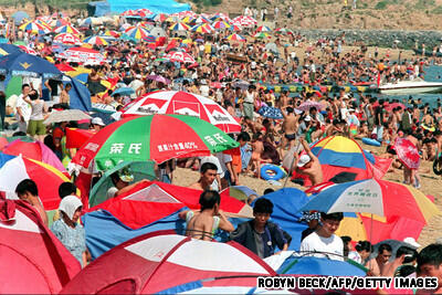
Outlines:
[[199, 117], [224, 133], [240, 133], [241, 125], [210, 98], [188, 92], [154, 92], [124, 107], [123, 116], [176, 114]]

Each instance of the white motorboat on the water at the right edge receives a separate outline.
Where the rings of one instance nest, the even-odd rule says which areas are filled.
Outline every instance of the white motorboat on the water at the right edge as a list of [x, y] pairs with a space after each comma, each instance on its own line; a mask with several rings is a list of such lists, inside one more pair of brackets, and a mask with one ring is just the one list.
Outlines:
[[422, 78], [404, 80], [393, 83], [385, 83], [379, 86], [382, 94], [419, 94], [442, 93], [441, 82], [427, 82]]

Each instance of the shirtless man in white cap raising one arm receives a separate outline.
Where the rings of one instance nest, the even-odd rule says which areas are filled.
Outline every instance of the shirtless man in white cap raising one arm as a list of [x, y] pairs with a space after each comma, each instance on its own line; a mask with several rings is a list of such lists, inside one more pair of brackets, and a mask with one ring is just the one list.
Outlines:
[[[319, 185], [324, 180], [319, 159], [312, 152], [307, 141], [305, 141], [304, 138], [301, 138], [299, 141], [303, 145], [306, 155], [303, 155], [299, 157], [299, 159], [296, 159], [296, 172], [308, 176], [309, 180], [312, 181], [312, 186]], [[297, 157], [296, 154], [295, 157]]]

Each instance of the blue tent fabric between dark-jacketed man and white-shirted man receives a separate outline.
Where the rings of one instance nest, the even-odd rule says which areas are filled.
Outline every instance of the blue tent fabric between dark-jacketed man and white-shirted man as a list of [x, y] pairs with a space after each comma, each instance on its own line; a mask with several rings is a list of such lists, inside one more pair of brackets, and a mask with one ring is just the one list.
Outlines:
[[298, 222], [302, 217], [299, 209], [309, 200], [307, 194], [295, 188], [285, 188], [261, 198], [266, 198], [273, 202], [272, 221], [292, 235], [288, 250], [299, 251], [301, 233], [307, 229], [305, 223]]

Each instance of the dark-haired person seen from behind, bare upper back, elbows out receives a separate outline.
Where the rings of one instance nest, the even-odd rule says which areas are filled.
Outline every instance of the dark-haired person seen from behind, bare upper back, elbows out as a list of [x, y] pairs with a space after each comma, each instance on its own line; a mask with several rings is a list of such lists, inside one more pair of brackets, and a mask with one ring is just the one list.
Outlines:
[[218, 191], [204, 190], [199, 202], [201, 206], [199, 212], [186, 210], [179, 213], [179, 218], [186, 220], [186, 235], [210, 241], [218, 229], [227, 232], [234, 230], [232, 223], [220, 210], [221, 197]]

